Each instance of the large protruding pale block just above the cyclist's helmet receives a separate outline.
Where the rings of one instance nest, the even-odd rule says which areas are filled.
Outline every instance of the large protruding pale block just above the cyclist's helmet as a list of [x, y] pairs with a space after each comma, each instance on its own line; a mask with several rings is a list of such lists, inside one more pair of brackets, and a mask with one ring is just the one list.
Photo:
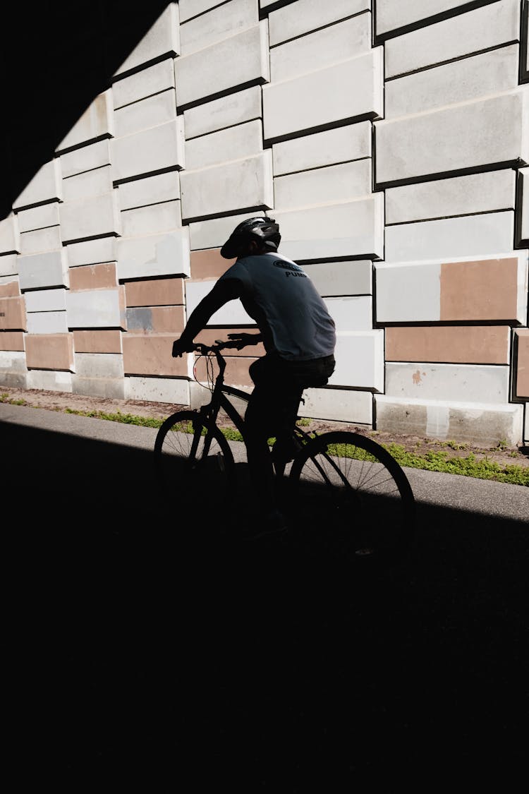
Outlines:
[[180, 175], [182, 218], [274, 206], [272, 152]]

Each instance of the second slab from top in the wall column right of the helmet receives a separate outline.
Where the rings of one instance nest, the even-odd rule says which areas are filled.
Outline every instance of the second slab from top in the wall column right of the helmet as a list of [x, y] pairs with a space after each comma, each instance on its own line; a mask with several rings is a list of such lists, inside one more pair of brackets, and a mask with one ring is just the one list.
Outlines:
[[270, 50], [270, 82], [289, 80], [371, 49], [371, 14], [344, 20]]

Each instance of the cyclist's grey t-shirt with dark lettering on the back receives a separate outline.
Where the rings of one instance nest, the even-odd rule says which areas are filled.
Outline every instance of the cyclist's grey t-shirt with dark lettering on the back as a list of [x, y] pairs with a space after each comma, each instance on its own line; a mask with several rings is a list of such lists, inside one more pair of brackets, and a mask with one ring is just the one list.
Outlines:
[[334, 353], [334, 320], [309, 276], [286, 256], [244, 256], [220, 279], [242, 283], [240, 301], [263, 333], [267, 353], [297, 361]]

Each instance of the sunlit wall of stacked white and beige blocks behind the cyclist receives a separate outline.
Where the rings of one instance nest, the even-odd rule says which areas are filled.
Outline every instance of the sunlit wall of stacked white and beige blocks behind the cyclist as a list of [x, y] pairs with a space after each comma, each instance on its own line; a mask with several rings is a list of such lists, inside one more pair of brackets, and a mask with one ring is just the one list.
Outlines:
[[529, 443], [528, 75], [525, 0], [168, 3], [0, 220], [0, 387], [203, 403], [172, 342], [270, 214], [336, 324], [305, 415]]

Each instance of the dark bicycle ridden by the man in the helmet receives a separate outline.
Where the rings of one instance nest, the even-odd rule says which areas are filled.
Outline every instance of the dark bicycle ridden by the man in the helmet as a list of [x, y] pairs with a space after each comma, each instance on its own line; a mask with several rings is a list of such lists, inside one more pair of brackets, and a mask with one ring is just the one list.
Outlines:
[[[250, 394], [224, 383], [222, 351], [257, 344], [248, 337], [228, 334], [229, 341], [194, 345], [206, 358], [212, 395], [197, 409], [171, 414], [159, 428], [155, 466], [168, 488], [178, 484], [178, 491], [183, 489], [190, 497], [212, 500], [220, 496], [225, 500], [234, 488], [235, 460], [217, 417], [224, 410], [244, 438], [243, 415], [233, 398], [247, 403]], [[219, 371], [212, 388], [215, 360]], [[287, 482], [284, 499], [298, 537], [309, 538], [324, 527], [326, 545], [357, 557], [394, 556], [408, 548], [414, 534], [415, 499], [404, 470], [384, 447], [352, 430], [307, 433], [298, 423], [293, 436], [299, 451], [291, 462], [274, 461], [274, 472], [278, 484]], [[271, 452], [274, 439], [268, 441]]]

